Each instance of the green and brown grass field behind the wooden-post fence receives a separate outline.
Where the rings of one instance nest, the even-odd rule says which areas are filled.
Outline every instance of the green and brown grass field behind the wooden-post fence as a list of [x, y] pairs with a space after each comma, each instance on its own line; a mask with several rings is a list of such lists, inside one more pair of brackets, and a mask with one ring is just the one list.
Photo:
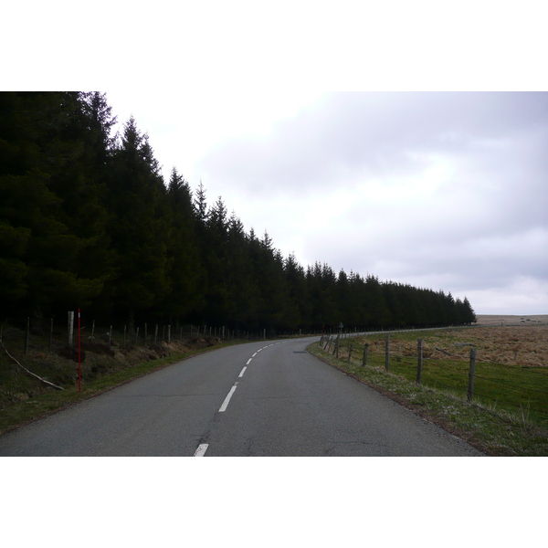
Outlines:
[[[548, 326], [481, 327], [390, 336], [389, 371], [416, 380], [417, 339], [423, 340], [422, 384], [466, 397], [469, 351], [477, 351], [474, 399], [548, 428]], [[385, 335], [342, 339], [356, 363], [369, 342], [368, 364], [385, 366]], [[450, 355], [448, 355], [450, 354]]]

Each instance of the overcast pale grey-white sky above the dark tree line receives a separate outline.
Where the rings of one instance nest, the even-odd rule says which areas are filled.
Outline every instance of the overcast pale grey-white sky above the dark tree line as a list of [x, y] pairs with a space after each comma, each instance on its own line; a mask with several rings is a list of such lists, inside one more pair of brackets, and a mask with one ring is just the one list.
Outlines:
[[109, 92], [208, 203], [284, 256], [548, 313], [548, 93]]

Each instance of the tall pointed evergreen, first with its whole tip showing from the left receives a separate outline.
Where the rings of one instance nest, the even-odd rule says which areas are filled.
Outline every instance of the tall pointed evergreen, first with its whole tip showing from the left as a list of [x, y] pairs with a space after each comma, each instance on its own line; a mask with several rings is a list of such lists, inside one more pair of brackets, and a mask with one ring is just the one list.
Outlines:
[[113, 158], [110, 233], [117, 253], [114, 303], [133, 325], [135, 314], [150, 310], [169, 293], [172, 227], [158, 163], [146, 135], [133, 118], [124, 125]]

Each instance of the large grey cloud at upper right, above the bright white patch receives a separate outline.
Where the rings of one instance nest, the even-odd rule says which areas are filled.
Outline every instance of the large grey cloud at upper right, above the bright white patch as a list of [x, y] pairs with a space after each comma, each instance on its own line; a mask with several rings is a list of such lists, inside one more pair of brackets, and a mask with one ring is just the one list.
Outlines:
[[203, 173], [254, 193], [318, 188], [338, 174], [412, 174], [413, 151], [469, 153], [481, 140], [545, 128], [544, 93], [336, 93], [266, 138], [240, 137], [202, 159]]

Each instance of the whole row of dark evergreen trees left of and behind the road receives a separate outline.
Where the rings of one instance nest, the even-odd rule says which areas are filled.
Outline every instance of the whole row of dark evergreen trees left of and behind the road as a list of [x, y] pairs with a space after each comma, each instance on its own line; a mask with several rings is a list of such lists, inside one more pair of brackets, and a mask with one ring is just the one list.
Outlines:
[[247, 233], [148, 136], [121, 134], [99, 92], [0, 93], [4, 318], [170, 321], [231, 329], [427, 326], [475, 320], [469, 301], [325, 264], [304, 269]]

